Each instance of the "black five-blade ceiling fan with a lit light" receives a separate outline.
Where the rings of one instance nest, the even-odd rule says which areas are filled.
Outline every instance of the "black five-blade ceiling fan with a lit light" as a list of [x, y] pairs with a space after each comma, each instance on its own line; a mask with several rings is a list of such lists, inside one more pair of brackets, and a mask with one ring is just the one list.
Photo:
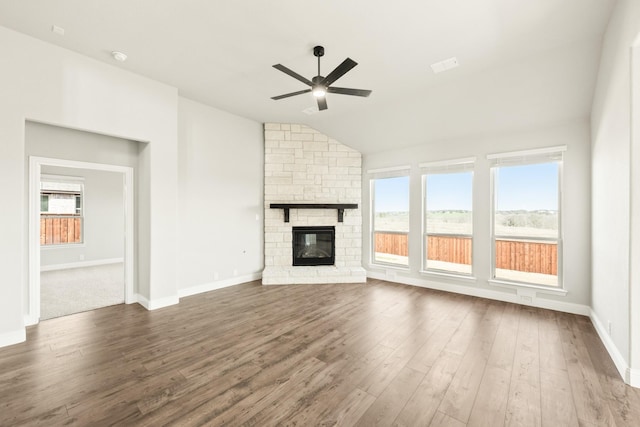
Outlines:
[[310, 86], [310, 89], [299, 90], [297, 92], [286, 93], [284, 95], [274, 96], [271, 99], [278, 100], [283, 98], [288, 98], [290, 96], [302, 95], [303, 93], [313, 93], [313, 96], [316, 97], [316, 101], [318, 101], [318, 109], [326, 110], [327, 109], [327, 99], [325, 95], [327, 93], [337, 93], [340, 95], [352, 95], [352, 96], [369, 96], [371, 95], [370, 90], [365, 89], [350, 89], [345, 87], [335, 87], [331, 86], [333, 82], [338, 80], [340, 77], [345, 75], [347, 71], [358, 65], [356, 61], [351, 58], [347, 58], [342, 61], [342, 64], [338, 65], [335, 70], [330, 72], [326, 77], [320, 75], [320, 58], [324, 55], [324, 47], [316, 46], [313, 48], [313, 55], [318, 58], [318, 75], [313, 77], [311, 80], [308, 80], [302, 77], [300, 74], [295, 71], [290, 70], [282, 64], [276, 64], [273, 68], [282, 71], [285, 74], [290, 75], [296, 80], [301, 81], [302, 83]]

